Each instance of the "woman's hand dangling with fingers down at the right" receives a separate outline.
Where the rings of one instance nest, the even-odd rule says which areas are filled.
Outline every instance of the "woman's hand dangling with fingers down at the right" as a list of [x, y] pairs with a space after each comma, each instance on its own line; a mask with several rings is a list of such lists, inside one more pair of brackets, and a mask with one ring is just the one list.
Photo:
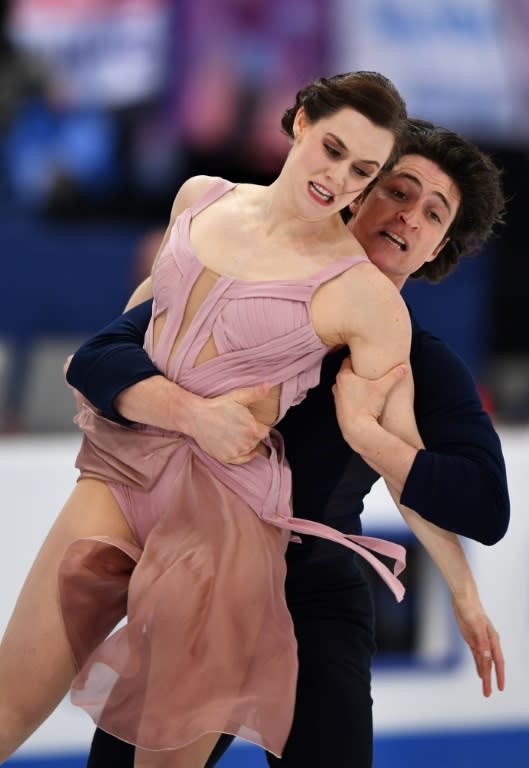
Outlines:
[[481, 678], [483, 695], [492, 693], [492, 667], [499, 691], [505, 687], [505, 661], [500, 637], [477, 597], [452, 597], [452, 608], [459, 629], [469, 646], [476, 672]]

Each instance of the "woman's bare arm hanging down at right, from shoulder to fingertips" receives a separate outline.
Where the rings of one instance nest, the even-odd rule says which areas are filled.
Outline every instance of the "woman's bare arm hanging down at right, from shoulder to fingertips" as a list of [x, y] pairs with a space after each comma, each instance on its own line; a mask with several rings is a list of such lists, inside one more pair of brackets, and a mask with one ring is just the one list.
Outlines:
[[[358, 375], [366, 379], [377, 379], [395, 366], [406, 366], [406, 375], [397, 375], [396, 382], [391, 382], [393, 386], [379, 418], [366, 413], [363, 430], [363, 441], [369, 446], [369, 458], [375, 467], [383, 467], [388, 460], [386, 454], [400, 451], [404, 444], [406, 450], [402, 457], [396, 458], [394, 466], [397, 469], [392, 473], [393, 478], [398, 478], [400, 472], [406, 471], [408, 463], [411, 466], [416, 450], [423, 447], [413, 411], [413, 380], [408, 361], [410, 321], [396, 289], [381, 273], [370, 274], [369, 266], [358, 265], [353, 268], [342, 284], [335, 281], [335, 285], [330, 286], [327, 296], [321, 292], [319, 305], [316, 304], [314, 311], [318, 318], [323, 317], [320, 330], [324, 333], [331, 333], [333, 323], [338, 324], [338, 327], [340, 322], [343, 323], [343, 336], [334, 339], [331, 336], [330, 340], [337, 343], [345, 341], [348, 344], [352, 368]], [[362, 272], [356, 271], [359, 267]], [[344, 289], [345, 295], [342, 294]], [[335, 313], [341, 311], [347, 317], [348, 306], [354, 309], [343, 322]], [[340, 414], [338, 416], [340, 419]], [[347, 434], [346, 428], [344, 433]], [[382, 433], [389, 433], [391, 439], [386, 441]], [[462, 632], [465, 629], [466, 634], [463, 634], [474, 655], [483, 691], [489, 695], [492, 663], [496, 666], [498, 686], [503, 687], [503, 657], [497, 633], [481, 606], [476, 583], [459, 538], [400, 504], [400, 492], [393, 486], [391, 477], [389, 481], [387, 479], [387, 484], [404, 520], [428, 551], [450, 589], [454, 612]]]

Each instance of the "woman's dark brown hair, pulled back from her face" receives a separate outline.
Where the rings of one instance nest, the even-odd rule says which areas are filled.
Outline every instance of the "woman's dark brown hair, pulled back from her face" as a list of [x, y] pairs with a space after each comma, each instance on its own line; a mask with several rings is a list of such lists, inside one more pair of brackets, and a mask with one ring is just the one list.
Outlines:
[[294, 118], [303, 107], [309, 123], [349, 107], [380, 128], [387, 128], [395, 138], [395, 148], [388, 160], [393, 162], [394, 153], [406, 121], [406, 104], [391, 80], [378, 72], [347, 72], [333, 77], [320, 77], [296, 94], [293, 107], [287, 109], [281, 119], [284, 132], [294, 137]]

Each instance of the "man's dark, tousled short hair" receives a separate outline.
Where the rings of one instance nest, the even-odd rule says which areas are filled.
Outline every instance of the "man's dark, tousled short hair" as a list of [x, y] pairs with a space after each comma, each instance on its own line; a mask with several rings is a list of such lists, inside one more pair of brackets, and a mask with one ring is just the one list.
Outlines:
[[437, 283], [464, 256], [478, 251], [503, 222], [505, 198], [501, 171], [491, 158], [454, 131], [410, 119], [400, 144], [401, 155], [420, 155], [431, 160], [456, 184], [461, 201], [439, 255], [423, 264], [411, 277]]

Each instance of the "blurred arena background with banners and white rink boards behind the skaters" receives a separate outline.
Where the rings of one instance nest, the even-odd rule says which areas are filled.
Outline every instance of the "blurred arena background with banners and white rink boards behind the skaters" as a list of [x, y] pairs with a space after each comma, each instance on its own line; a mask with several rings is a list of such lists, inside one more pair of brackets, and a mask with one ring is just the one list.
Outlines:
[[[375, 768], [527, 768], [528, 41], [529, 0], [1, 1], [0, 629], [75, 480], [63, 361], [122, 311], [179, 184], [195, 173], [271, 181], [288, 149], [280, 116], [298, 87], [379, 70], [410, 114], [460, 131], [504, 169], [500, 237], [406, 298], [479, 383], [505, 449], [513, 520], [492, 550], [468, 545], [507, 659], [507, 689], [491, 700], [413, 542], [405, 604], [386, 605], [375, 585]], [[405, 538], [376, 490], [366, 530]], [[90, 734], [65, 702], [7, 764], [81, 768]], [[242, 745], [222, 762], [264, 764]]]

